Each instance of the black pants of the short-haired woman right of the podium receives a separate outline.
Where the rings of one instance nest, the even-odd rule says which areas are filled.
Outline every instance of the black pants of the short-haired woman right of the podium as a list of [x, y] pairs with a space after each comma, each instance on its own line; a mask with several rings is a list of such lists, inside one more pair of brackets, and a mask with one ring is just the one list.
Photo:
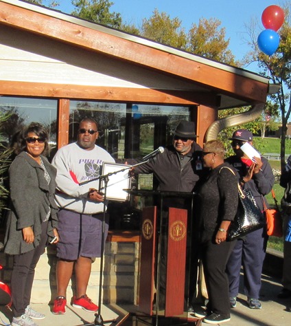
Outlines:
[[229, 281], [225, 272], [226, 263], [236, 241], [222, 242], [219, 245], [209, 240], [202, 243], [202, 262], [209, 296], [207, 308], [216, 314], [229, 315]]

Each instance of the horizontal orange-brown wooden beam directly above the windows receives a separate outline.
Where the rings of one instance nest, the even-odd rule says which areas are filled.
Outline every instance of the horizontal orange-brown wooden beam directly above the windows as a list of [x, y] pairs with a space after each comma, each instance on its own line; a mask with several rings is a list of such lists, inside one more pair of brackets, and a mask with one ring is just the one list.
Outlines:
[[217, 107], [217, 96], [211, 92], [174, 91], [143, 88], [100, 87], [28, 83], [0, 80], [0, 94], [7, 96], [37, 96], [110, 102], [151, 103], [167, 105], [198, 105]]

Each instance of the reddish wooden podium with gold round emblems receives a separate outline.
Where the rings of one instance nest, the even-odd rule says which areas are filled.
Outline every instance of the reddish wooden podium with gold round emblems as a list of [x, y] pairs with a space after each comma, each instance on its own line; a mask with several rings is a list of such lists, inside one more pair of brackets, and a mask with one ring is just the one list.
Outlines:
[[142, 208], [138, 313], [152, 318], [152, 325], [198, 325], [200, 320], [189, 320], [187, 314], [186, 266], [190, 265], [194, 195], [161, 191], [130, 194], [152, 197], [154, 203]]

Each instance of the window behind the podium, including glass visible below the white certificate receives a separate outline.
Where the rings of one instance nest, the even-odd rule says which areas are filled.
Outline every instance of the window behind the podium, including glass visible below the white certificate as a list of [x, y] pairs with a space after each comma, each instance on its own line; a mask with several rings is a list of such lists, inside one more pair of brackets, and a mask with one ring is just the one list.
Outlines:
[[[101, 131], [98, 146], [115, 159], [141, 158], [159, 146], [171, 144], [171, 131], [179, 120], [189, 120], [189, 117], [189, 107], [73, 100], [70, 102], [69, 142], [77, 139], [79, 122], [93, 118]], [[132, 183], [140, 189], [151, 190], [154, 178], [152, 174], [138, 175]], [[130, 202], [109, 202], [111, 230], [139, 230], [141, 211], [135, 207], [139, 206], [140, 197], [133, 197]]]

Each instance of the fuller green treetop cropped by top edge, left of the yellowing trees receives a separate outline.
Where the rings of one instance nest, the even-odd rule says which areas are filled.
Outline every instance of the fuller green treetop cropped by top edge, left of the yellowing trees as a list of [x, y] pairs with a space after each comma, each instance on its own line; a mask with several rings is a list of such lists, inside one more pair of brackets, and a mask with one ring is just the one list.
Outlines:
[[113, 2], [108, 0], [73, 0], [74, 16], [100, 23], [112, 28], [121, 28], [121, 16], [119, 13], [110, 12]]

